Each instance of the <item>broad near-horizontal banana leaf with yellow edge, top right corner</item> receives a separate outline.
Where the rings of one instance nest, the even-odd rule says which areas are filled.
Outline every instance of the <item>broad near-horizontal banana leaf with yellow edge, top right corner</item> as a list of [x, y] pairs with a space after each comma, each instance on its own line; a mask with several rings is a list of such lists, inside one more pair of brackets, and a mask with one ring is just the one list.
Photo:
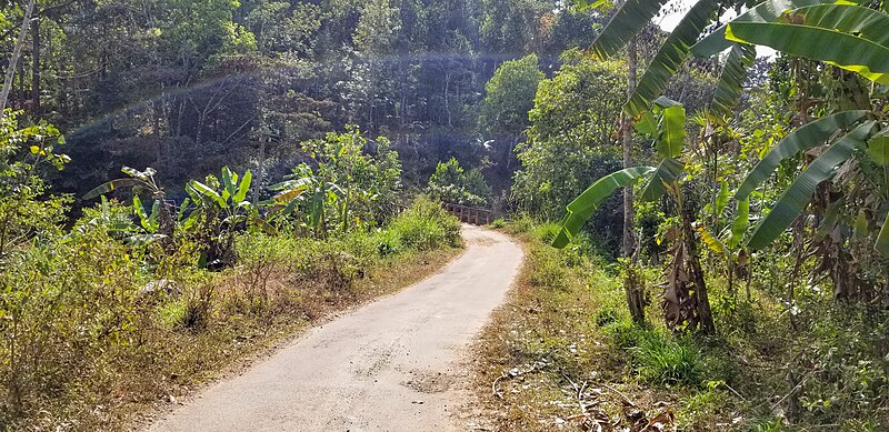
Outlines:
[[[832, 4], [832, 7], [840, 7]], [[831, 16], [839, 19], [836, 14]], [[823, 61], [857, 72], [871, 81], [889, 84], [889, 47], [839, 30], [837, 22], [825, 27], [797, 24], [805, 20], [789, 16], [790, 22], [732, 21], [726, 28], [726, 39], [771, 47], [778, 51]]]

